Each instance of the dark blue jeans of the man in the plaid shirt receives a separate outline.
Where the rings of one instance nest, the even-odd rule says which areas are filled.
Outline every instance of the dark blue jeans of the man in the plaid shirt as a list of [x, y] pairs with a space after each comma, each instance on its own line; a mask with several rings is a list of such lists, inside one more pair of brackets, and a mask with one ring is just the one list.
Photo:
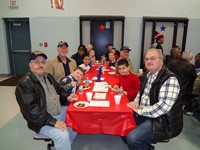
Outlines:
[[152, 143], [151, 119], [136, 114], [135, 121], [137, 127], [126, 137], [129, 150], [148, 150], [147, 144]]

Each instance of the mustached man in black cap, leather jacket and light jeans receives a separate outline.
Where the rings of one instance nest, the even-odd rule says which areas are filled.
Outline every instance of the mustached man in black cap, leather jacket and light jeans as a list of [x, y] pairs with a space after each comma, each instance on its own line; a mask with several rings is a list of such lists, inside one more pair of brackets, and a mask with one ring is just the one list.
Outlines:
[[16, 87], [16, 99], [29, 129], [50, 137], [56, 150], [71, 150], [76, 132], [66, 126], [67, 106], [62, 104], [76, 100], [77, 95], [68, 96], [45, 72], [46, 59], [41, 51], [31, 54], [30, 70]]

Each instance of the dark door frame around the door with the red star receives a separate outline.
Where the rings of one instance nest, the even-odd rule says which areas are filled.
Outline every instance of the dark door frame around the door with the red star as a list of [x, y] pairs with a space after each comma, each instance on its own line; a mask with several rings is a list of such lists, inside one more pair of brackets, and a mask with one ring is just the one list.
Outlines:
[[[122, 39], [121, 39], [121, 47], [124, 45], [124, 16], [80, 16], [79, 17], [79, 27], [80, 27], [80, 44], [82, 44], [82, 22], [83, 21], [90, 21], [90, 24], [92, 21], [112, 21], [114, 24], [114, 21], [122, 21]], [[91, 27], [90, 27], [90, 37], [91, 37]], [[114, 35], [114, 32], [113, 32]], [[114, 37], [113, 37], [114, 38]], [[91, 39], [90, 39], [91, 42]]]

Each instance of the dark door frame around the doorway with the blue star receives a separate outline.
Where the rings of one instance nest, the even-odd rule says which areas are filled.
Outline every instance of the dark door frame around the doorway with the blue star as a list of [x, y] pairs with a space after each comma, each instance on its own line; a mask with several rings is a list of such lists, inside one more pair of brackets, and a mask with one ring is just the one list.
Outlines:
[[173, 33], [173, 41], [172, 41], [172, 47], [176, 45], [177, 40], [177, 30], [178, 30], [178, 23], [184, 23], [184, 30], [183, 30], [183, 40], [182, 40], [182, 46], [181, 51], [185, 50], [186, 45], [186, 38], [187, 38], [187, 29], [188, 29], [188, 22], [189, 19], [186, 17], [143, 17], [143, 28], [142, 28], [142, 43], [141, 43], [141, 61], [140, 61], [140, 67], [143, 66], [143, 55], [144, 55], [144, 40], [145, 40], [145, 27], [147, 22], [153, 22], [152, 26], [152, 37], [151, 37], [151, 43], [154, 42], [154, 32], [156, 31], [156, 23], [157, 22], [173, 22], [174, 23], [174, 33]]

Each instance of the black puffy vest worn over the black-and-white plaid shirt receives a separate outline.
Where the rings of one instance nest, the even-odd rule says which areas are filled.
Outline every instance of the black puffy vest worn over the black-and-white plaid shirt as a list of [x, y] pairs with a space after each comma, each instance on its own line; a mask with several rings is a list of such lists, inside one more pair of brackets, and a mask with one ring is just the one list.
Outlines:
[[[161, 86], [163, 83], [176, 75], [169, 71], [167, 68], [163, 67], [152, 84], [150, 89], [150, 105], [155, 104], [158, 102], [158, 95]], [[147, 77], [144, 75], [141, 84], [141, 95], [144, 92], [145, 84], [147, 82]], [[181, 91], [179, 92], [181, 93]], [[172, 106], [171, 110], [157, 118], [151, 118], [152, 120], [152, 139], [155, 142], [171, 139], [177, 135], [179, 135], [183, 128], [183, 115], [182, 115], [182, 105], [183, 101], [181, 98], [181, 94], [179, 94], [178, 98], [176, 99], [174, 105]]]

